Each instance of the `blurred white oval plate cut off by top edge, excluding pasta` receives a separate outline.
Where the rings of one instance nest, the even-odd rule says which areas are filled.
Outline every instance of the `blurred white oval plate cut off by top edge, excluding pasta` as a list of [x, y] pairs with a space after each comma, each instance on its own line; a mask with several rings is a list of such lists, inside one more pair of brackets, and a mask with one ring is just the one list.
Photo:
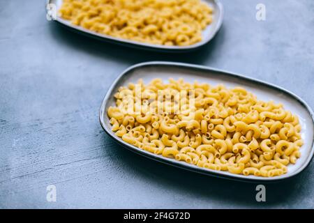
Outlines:
[[[53, 6], [55, 6], [55, 10], [59, 12], [59, 9], [61, 8], [61, 5], [62, 5], [62, 1], [63, 0], [47, 0], [47, 4], [53, 4]], [[218, 30], [220, 29], [221, 24], [223, 23], [223, 5], [218, 0], [202, 0], [202, 1], [204, 1], [209, 6], [211, 6], [211, 8], [214, 9], [213, 21], [202, 32], [202, 41], [199, 43], [195, 43], [193, 45], [189, 45], [189, 46], [153, 45], [149, 43], [140, 43], [140, 42], [136, 42], [132, 40], [125, 40], [122, 38], [115, 38], [112, 36], [90, 31], [89, 29], [84, 29], [81, 26], [73, 25], [71, 24], [70, 21], [64, 20], [63, 18], [59, 17], [58, 13], [57, 13], [57, 17], [55, 21], [67, 26], [68, 28], [73, 29], [74, 31], [77, 31], [78, 33], [82, 33], [82, 34], [85, 34], [86, 36], [98, 38], [100, 40], [105, 40], [111, 43], [117, 43], [120, 45], [129, 46], [129, 47], [140, 47], [143, 49], [151, 49], [155, 51], [157, 50], [157, 51], [165, 51], [165, 52], [184, 52], [184, 51], [188, 51], [192, 49], [197, 49], [198, 47], [201, 47], [202, 45], [209, 43], [209, 41], [212, 38], [214, 38]]]

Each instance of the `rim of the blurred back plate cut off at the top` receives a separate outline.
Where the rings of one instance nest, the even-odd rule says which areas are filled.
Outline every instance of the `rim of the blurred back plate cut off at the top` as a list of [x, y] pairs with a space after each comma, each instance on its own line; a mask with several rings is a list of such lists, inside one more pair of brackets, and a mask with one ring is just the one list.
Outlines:
[[[52, 3], [52, 1], [57, 0], [46, 0], [46, 11], [48, 10], [47, 5]], [[206, 1], [206, 0], [202, 0]], [[219, 8], [219, 17], [217, 19], [216, 29], [214, 29], [214, 32], [211, 34], [210, 38], [206, 41], [201, 41], [198, 43], [195, 43], [193, 45], [188, 46], [165, 46], [165, 45], [154, 45], [150, 43], [141, 43], [134, 40], [126, 40], [123, 38], [115, 38], [110, 35], [100, 34], [96, 33], [95, 31], [90, 31], [89, 29], [85, 29], [81, 26], [76, 26], [73, 24], [67, 24], [61, 17], [57, 16], [56, 20], [53, 20], [54, 22], [57, 22], [63, 26], [66, 26], [69, 29], [73, 29], [73, 31], [76, 31], [77, 33], [83, 34], [85, 36], [89, 36], [91, 38], [97, 38], [99, 40], [107, 41], [110, 43], [115, 43], [118, 45], [125, 45], [128, 47], [135, 47], [135, 48], [141, 48], [141, 49], [150, 49], [154, 51], [165, 51], [165, 52], [187, 52], [191, 50], [198, 49], [200, 47], [203, 47], [204, 45], [207, 45], [218, 33], [220, 30], [222, 24], [223, 24], [223, 17], [224, 17], [224, 8], [223, 4], [220, 2], [220, 0], [211, 0], [213, 1], [217, 8]]]

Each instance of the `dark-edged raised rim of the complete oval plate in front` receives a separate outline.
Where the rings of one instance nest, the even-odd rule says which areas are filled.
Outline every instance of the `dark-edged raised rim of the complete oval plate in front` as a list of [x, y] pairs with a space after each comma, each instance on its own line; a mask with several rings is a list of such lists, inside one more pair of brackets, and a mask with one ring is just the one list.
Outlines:
[[294, 93], [292, 93], [291, 91], [288, 91], [287, 89], [283, 89], [281, 86], [277, 86], [275, 84], [270, 84], [268, 82], [264, 82], [260, 79], [253, 79], [252, 77], [246, 77], [244, 75], [239, 75], [237, 73], [234, 72], [229, 72], [226, 70], [220, 70], [217, 68], [212, 68], [212, 67], [208, 67], [208, 66], [200, 66], [200, 65], [195, 65], [195, 64], [190, 64], [190, 63], [180, 63], [180, 62], [170, 62], [170, 61], [149, 61], [149, 62], [144, 62], [144, 63], [137, 63], [133, 66], [130, 66], [128, 68], [126, 68], [123, 72], [120, 73], [120, 75], [118, 75], [118, 77], [114, 80], [114, 82], [112, 82], [110, 88], [107, 90], [107, 93], [105, 94], [105, 97], [103, 98], [103, 101], [100, 105], [100, 112], [99, 112], [99, 121], [100, 121], [100, 125], [103, 128], [103, 130], [105, 130], [105, 132], [112, 137], [112, 139], [114, 139], [114, 141], [117, 141], [121, 146], [123, 146], [124, 148], [127, 148], [128, 150], [140, 154], [140, 155], [144, 155], [144, 157], [148, 157], [152, 160], [156, 160], [158, 162], [162, 162], [165, 164], [170, 164], [171, 166], [174, 167], [179, 167], [181, 169], [187, 169], [188, 171], [193, 171], [193, 172], [197, 172], [199, 174], [204, 174], [207, 176], [215, 176], [218, 178], [225, 178], [225, 179], [230, 179], [230, 180], [237, 180], [237, 181], [242, 181], [242, 182], [246, 182], [246, 183], [276, 183], [278, 181], [282, 181], [285, 180], [287, 178], [292, 178], [293, 176], [296, 176], [297, 174], [301, 173], [301, 171], [304, 171], [304, 169], [306, 169], [306, 167], [308, 167], [308, 165], [311, 163], [311, 160], [313, 158], [314, 155], [314, 133], [312, 136], [312, 145], [311, 145], [311, 153], [310, 155], [308, 155], [307, 159], [305, 160], [305, 162], [301, 165], [301, 167], [299, 167], [299, 169], [297, 169], [297, 171], [294, 171], [292, 174], [289, 175], [281, 175], [281, 176], [274, 176], [271, 178], [264, 178], [264, 177], [255, 177], [255, 178], [248, 178], [247, 176], [243, 176], [243, 175], [237, 175], [237, 174], [233, 174], [233, 175], [225, 175], [224, 171], [214, 171], [211, 169], [204, 169], [201, 167], [196, 167], [195, 165], [191, 165], [191, 164], [185, 164], [184, 162], [179, 162], [177, 160], [173, 160], [167, 157], [160, 157], [160, 155], [156, 155], [153, 153], [149, 153], [148, 151], [144, 151], [141, 150], [140, 148], [137, 148], [136, 146], [133, 146], [131, 144], [128, 144], [124, 141], [122, 141], [121, 138], [116, 137], [114, 135], [114, 132], [112, 132], [112, 130], [107, 129], [106, 125], [105, 125], [105, 107], [107, 105], [107, 101], [108, 98], [110, 98], [110, 95], [112, 95], [112, 91], [114, 90], [114, 87], [117, 86], [119, 80], [124, 77], [124, 75], [128, 74], [128, 72], [131, 72], [132, 70], [135, 70], [137, 68], [143, 68], [143, 67], [149, 67], [149, 66], [175, 66], [178, 68], [194, 68], [197, 70], [202, 70], [202, 71], [210, 71], [210, 72], [221, 72], [225, 75], [230, 75], [231, 77], [239, 77], [240, 79], [244, 79], [246, 81], [249, 82], [255, 82], [258, 84], [263, 84], [264, 86], [268, 86], [271, 89], [276, 89], [278, 91], [282, 91], [283, 93], [290, 95], [292, 98], [294, 98], [295, 100], [297, 100], [297, 102], [299, 102], [308, 112], [308, 114], [310, 114], [311, 119], [312, 119], [312, 124], [314, 126], [314, 113], [313, 110], [311, 109], [311, 107], [301, 98], [299, 98], [299, 96], [295, 95]]

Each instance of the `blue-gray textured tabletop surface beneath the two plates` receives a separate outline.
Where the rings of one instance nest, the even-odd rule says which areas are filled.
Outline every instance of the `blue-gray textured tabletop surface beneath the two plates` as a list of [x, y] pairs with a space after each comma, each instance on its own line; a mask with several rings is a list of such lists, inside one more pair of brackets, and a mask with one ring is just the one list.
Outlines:
[[[283, 86], [314, 107], [314, 3], [222, 1], [224, 24], [197, 52], [162, 54], [101, 43], [45, 20], [43, 1], [0, 1], [0, 208], [314, 208], [313, 162], [255, 185], [145, 160], [100, 128], [113, 79], [134, 63], [181, 61]], [[255, 20], [264, 3], [267, 20]], [[57, 186], [57, 202], [46, 187]]]

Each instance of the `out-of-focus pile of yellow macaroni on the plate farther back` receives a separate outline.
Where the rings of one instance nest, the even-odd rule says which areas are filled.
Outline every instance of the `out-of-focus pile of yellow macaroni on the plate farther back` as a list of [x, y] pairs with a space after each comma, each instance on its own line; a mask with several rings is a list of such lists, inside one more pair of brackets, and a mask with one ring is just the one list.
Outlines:
[[97, 33], [156, 45], [193, 45], [211, 23], [200, 0], [63, 0], [61, 17]]

